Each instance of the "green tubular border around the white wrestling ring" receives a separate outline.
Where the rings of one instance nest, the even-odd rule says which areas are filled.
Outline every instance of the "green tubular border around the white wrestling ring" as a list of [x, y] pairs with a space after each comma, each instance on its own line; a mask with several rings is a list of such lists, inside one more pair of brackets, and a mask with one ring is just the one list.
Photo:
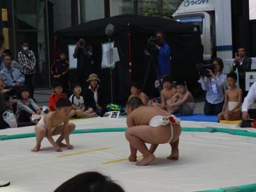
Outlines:
[[[100, 128], [100, 129], [78, 129], [72, 132], [72, 134], [81, 134], [81, 133], [89, 133], [89, 132], [124, 132], [127, 127], [120, 128]], [[237, 136], [249, 136], [256, 138], [256, 132], [249, 132], [246, 130], [239, 129], [227, 129], [227, 128], [218, 128], [218, 127], [205, 127], [205, 128], [197, 128], [197, 127], [182, 127], [182, 131], [184, 132], [224, 132], [228, 134], [234, 134]], [[35, 133], [25, 133], [25, 134], [14, 134], [14, 135], [0, 135], [0, 141], [4, 140], [15, 140], [22, 138], [31, 138], [35, 137]], [[243, 186], [233, 186], [228, 188], [219, 188], [219, 189], [211, 189], [207, 191], [195, 191], [195, 192], [253, 192], [256, 191], [256, 183], [255, 184], [247, 184]]]

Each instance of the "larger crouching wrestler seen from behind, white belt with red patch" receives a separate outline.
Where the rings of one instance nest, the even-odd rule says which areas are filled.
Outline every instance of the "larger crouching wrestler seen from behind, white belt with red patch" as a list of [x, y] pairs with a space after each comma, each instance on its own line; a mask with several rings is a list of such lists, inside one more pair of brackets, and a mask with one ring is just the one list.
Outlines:
[[[129, 141], [131, 155], [129, 161], [137, 161], [137, 150], [143, 159], [137, 165], [147, 165], [154, 161], [154, 151], [158, 144], [170, 143], [171, 155], [168, 159], [179, 159], [180, 120], [170, 116], [168, 111], [155, 106], [147, 107], [138, 97], [132, 97], [126, 104], [127, 131], [125, 137]], [[148, 150], [145, 143], [152, 144]]]

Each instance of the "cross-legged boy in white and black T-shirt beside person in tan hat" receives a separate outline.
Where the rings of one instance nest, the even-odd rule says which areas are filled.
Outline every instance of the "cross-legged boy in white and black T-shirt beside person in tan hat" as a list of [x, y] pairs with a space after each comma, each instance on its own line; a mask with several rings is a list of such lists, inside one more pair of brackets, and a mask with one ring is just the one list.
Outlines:
[[72, 91], [73, 91], [73, 95], [70, 96], [69, 100], [72, 103], [72, 109], [74, 109], [74, 112], [73, 112], [74, 115], [77, 115], [77, 116], [96, 115], [96, 113], [93, 113], [93, 108], [85, 108], [84, 106], [84, 98], [83, 96], [81, 96], [81, 92], [82, 92], [81, 84], [79, 83], [74, 84]]

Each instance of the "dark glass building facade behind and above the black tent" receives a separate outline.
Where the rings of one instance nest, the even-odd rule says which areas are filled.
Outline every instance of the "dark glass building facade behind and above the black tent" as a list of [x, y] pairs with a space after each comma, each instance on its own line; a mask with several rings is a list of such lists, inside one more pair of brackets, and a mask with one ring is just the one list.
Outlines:
[[132, 13], [170, 18], [182, 0], [1, 0], [0, 29], [6, 49], [17, 53], [27, 40], [36, 56], [36, 88], [51, 88], [54, 31], [90, 20]]

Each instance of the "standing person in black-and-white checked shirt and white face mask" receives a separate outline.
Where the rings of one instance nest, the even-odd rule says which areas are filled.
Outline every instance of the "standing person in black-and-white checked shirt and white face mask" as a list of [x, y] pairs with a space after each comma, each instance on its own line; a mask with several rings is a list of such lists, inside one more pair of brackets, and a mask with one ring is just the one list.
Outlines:
[[30, 97], [34, 99], [34, 89], [35, 89], [35, 65], [36, 58], [33, 51], [29, 49], [28, 42], [24, 40], [21, 43], [21, 51], [18, 53], [19, 63], [23, 66], [22, 74], [25, 76], [25, 85], [28, 86], [30, 90]]

